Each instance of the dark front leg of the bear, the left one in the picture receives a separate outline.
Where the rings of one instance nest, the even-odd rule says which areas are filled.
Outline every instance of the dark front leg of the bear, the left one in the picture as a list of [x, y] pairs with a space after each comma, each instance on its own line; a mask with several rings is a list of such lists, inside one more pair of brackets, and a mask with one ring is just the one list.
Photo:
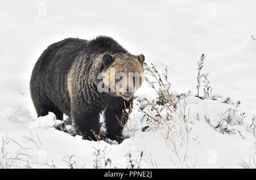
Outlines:
[[89, 108], [74, 108], [72, 119], [76, 128], [84, 139], [98, 140], [95, 135], [100, 135], [100, 111]]

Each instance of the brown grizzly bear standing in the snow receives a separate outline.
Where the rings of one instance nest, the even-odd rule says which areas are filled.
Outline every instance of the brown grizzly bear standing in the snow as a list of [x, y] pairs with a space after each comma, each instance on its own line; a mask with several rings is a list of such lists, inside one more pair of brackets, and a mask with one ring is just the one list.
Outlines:
[[84, 139], [96, 140], [104, 112], [105, 138], [121, 140], [120, 122], [128, 118], [134, 92], [143, 82], [143, 62], [144, 55], [130, 54], [107, 36], [56, 42], [44, 50], [32, 71], [30, 92], [36, 113], [39, 117], [52, 112], [60, 120], [66, 114]]

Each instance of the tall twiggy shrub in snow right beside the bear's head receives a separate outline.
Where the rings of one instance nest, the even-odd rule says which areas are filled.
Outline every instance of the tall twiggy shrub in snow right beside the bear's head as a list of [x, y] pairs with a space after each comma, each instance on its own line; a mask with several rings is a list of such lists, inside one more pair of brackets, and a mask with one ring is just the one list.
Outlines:
[[[147, 83], [158, 94], [157, 101], [150, 101], [144, 98], [147, 102], [146, 108], [143, 113], [147, 119], [147, 125], [152, 131], [158, 132], [164, 139], [168, 149], [170, 149], [170, 160], [179, 168], [191, 168], [187, 161], [188, 146], [191, 139], [191, 123], [188, 122], [186, 105], [180, 104], [180, 98], [186, 95], [174, 95], [171, 92], [171, 84], [167, 79], [167, 68], [165, 73], [162, 74], [156, 70], [156, 67], [148, 67], [148, 75], [151, 76], [150, 80], [146, 77]], [[163, 80], [164, 79], [164, 80]]]

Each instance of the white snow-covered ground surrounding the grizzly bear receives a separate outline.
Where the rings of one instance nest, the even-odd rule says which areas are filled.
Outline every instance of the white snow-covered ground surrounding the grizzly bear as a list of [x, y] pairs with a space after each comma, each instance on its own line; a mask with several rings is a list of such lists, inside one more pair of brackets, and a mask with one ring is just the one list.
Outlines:
[[[249, 128], [256, 115], [255, 7], [254, 0], [1, 1], [0, 141], [5, 148], [0, 164], [70, 168], [75, 161], [77, 168], [93, 168], [96, 162], [104, 166], [105, 157], [112, 168], [127, 168], [126, 155], [139, 160], [143, 151], [141, 168], [241, 168], [242, 159], [255, 167], [255, 137]], [[144, 54], [147, 64], [153, 63], [160, 72], [167, 66], [171, 91], [191, 91], [178, 105], [179, 112], [186, 102], [186, 123], [176, 114], [176, 122], [154, 127], [140, 110], [142, 102], [136, 102], [126, 125], [133, 131], [124, 131], [133, 137], [108, 144], [57, 131], [53, 126], [59, 121], [52, 113], [36, 118], [29, 80], [39, 55], [63, 38], [98, 35], [112, 36], [129, 52]], [[203, 53], [212, 95], [222, 96], [217, 100], [192, 96], [196, 95], [197, 61]], [[146, 82], [136, 95], [138, 100], [157, 98]], [[232, 100], [223, 103], [228, 96]], [[237, 100], [241, 101], [238, 108]], [[232, 121], [227, 127], [223, 120], [230, 108]], [[163, 112], [164, 116], [168, 111]], [[236, 121], [241, 121], [242, 112], [246, 117], [241, 126]], [[221, 127], [214, 128], [217, 125], [232, 132], [222, 134]], [[143, 132], [145, 126], [150, 127]], [[180, 134], [171, 131], [174, 136], [167, 137], [168, 127]], [[22, 159], [10, 162], [6, 157]]]

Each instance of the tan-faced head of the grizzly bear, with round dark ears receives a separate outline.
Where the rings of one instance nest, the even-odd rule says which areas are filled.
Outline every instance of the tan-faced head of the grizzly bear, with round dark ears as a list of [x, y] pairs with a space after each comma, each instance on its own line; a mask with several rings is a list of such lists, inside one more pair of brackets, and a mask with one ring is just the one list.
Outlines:
[[144, 55], [102, 54], [103, 82], [111, 95], [130, 100], [144, 80]]

